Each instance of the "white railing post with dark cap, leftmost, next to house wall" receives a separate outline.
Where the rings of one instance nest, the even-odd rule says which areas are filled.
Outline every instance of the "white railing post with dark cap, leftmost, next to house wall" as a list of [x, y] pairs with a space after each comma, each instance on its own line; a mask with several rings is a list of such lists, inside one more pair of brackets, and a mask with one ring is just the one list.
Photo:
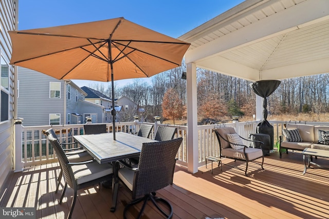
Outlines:
[[22, 163], [22, 118], [15, 119], [15, 155], [14, 155], [14, 172], [23, 171]]

